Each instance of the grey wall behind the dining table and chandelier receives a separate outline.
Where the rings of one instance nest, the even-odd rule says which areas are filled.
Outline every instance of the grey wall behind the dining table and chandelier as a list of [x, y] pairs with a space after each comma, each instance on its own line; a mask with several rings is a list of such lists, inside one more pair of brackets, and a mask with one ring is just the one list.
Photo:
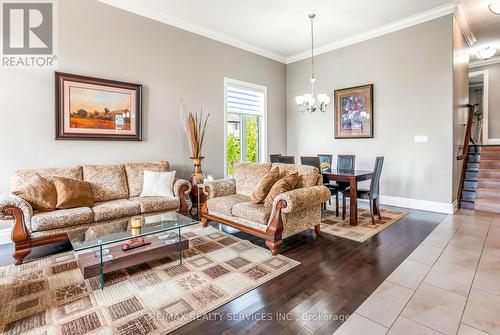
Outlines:
[[316, 58], [318, 92], [374, 84], [374, 139], [335, 140], [332, 107], [301, 114], [294, 97], [308, 90], [310, 60], [287, 66], [288, 153], [352, 153], [359, 169], [383, 155], [383, 195], [451, 203], [452, 27], [449, 15]]

